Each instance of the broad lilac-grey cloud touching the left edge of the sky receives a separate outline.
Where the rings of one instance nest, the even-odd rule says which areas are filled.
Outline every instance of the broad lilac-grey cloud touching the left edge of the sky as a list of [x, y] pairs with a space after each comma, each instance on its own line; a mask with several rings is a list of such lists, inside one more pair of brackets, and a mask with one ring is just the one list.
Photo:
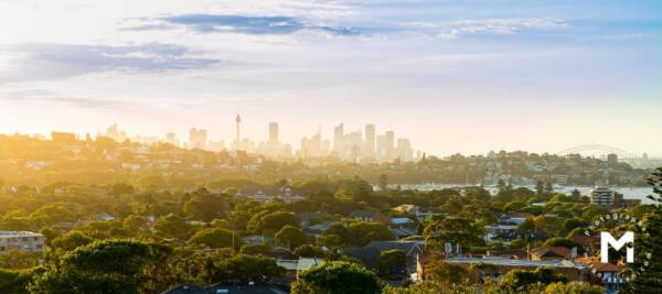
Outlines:
[[12, 56], [0, 69], [0, 83], [60, 79], [99, 72], [157, 72], [205, 68], [228, 62], [193, 57], [184, 46], [170, 44], [75, 45], [31, 43], [0, 47]]

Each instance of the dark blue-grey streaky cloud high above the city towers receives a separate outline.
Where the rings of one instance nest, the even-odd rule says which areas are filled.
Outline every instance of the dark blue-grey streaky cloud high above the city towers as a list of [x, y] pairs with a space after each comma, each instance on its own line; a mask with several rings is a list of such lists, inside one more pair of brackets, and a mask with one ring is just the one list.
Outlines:
[[247, 17], [226, 14], [182, 14], [138, 20], [125, 30], [171, 30], [180, 26], [199, 33], [289, 34], [300, 31], [321, 31], [337, 35], [355, 35], [359, 30], [349, 26], [308, 24], [293, 17]]

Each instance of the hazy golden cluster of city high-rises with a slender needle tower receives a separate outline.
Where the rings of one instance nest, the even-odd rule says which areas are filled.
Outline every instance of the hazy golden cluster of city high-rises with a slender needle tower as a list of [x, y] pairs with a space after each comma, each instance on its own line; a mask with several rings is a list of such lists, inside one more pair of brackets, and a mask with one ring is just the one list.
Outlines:
[[414, 160], [414, 150], [409, 139], [396, 138], [392, 130], [377, 133], [375, 124], [365, 124], [363, 129], [346, 131], [345, 126], [340, 123], [333, 128], [332, 138], [324, 140], [322, 137], [322, 128], [309, 137], [301, 139], [301, 146], [298, 151], [293, 151], [290, 144], [281, 142], [280, 129], [278, 122], [270, 122], [266, 129], [266, 141], [254, 142], [246, 137], [242, 137], [241, 116], [234, 118], [235, 133], [232, 135], [234, 140], [226, 148], [224, 141], [213, 141], [209, 138], [206, 129], [191, 128], [189, 130], [189, 140], [180, 141], [177, 133], [168, 132], [164, 140], [158, 137], [136, 137], [128, 139], [126, 132], [120, 131], [117, 124], [108, 127], [104, 135], [118, 142], [131, 140], [145, 144], [168, 143], [184, 149], [202, 149], [207, 151], [220, 152], [228, 151], [245, 151], [254, 152], [271, 159], [323, 159], [337, 157], [348, 162], [392, 162], [399, 160], [409, 162]]

